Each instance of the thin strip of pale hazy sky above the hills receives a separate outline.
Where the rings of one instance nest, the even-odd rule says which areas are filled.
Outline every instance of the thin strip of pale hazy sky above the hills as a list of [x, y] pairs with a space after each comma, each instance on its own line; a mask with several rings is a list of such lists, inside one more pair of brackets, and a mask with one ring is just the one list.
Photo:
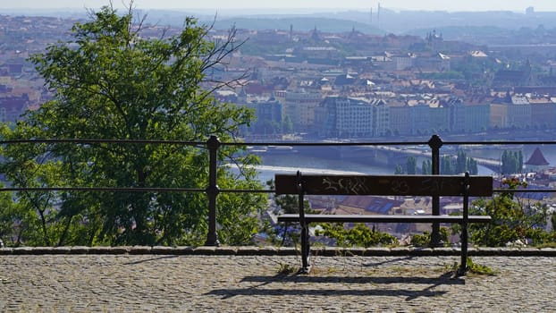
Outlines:
[[[122, 6], [122, 0], [114, 0], [114, 5]], [[364, 9], [374, 11], [378, 3], [389, 9], [442, 10], [442, 11], [487, 11], [510, 10], [525, 12], [528, 6], [535, 11], [556, 12], [555, 0], [135, 0], [138, 9], [239, 9], [239, 8], [326, 8]], [[129, 0], [123, 0], [129, 4]], [[109, 4], [109, 0], [2, 0], [1, 9], [14, 8], [89, 8], [96, 9]], [[2, 12], [0, 11], [0, 14]]]

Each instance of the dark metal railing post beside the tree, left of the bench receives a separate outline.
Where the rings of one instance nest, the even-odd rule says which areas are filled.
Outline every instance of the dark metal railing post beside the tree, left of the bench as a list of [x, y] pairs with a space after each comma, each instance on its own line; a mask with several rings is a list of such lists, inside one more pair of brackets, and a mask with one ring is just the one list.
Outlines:
[[216, 136], [210, 136], [206, 141], [208, 148], [208, 186], [206, 187], [206, 197], [208, 198], [208, 233], [206, 234], [206, 246], [219, 246], [218, 234], [216, 233], [216, 197], [220, 193], [220, 188], [216, 184], [216, 165], [220, 140]]

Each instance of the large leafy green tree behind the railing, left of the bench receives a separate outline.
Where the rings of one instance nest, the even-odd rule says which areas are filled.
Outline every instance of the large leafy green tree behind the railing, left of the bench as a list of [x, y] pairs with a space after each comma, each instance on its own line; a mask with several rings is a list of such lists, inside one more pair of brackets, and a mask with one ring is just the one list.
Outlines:
[[[132, 4], [132, 3], [131, 3]], [[133, 20], [112, 6], [90, 12], [90, 21], [72, 27], [72, 39], [46, 48], [31, 61], [55, 90], [55, 97], [28, 112], [4, 140], [103, 139], [205, 141], [216, 135], [235, 140], [251, 111], [218, 103], [212, 91], [231, 81], [210, 74], [238, 47], [234, 31], [210, 41], [209, 29], [187, 18], [175, 36], [144, 35], [145, 18]], [[240, 78], [238, 78], [240, 79]], [[223, 146], [221, 163], [240, 147]], [[15, 186], [103, 186], [206, 188], [207, 151], [187, 145], [40, 144], [4, 147], [3, 173]], [[240, 157], [252, 165], [253, 157]], [[28, 166], [22, 169], [20, 166]], [[255, 170], [242, 178], [224, 166], [223, 189], [260, 189]], [[18, 201], [36, 216], [27, 226], [29, 243], [199, 244], [206, 239], [206, 196], [177, 192], [18, 192]], [[249, 243], [257, 233], [257, 210], [265, 197], [222, 193], [217, 223], [223, 243]], [[32, 219], [32, 218], [31, 218]], [[38, 221], [38, 222], [36, 222]], [[32, 240], [37, 238], [36, 240]]]

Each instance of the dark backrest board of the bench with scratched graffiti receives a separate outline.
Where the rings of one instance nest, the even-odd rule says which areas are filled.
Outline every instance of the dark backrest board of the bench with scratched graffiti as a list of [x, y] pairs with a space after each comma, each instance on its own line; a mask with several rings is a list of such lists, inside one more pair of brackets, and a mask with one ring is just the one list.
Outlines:
[[[300, 181], [300, 186], [299, 186]], [[307, 195], [467, 196], [493, 195], [492, 176], [276, 174], [275, 193]]]

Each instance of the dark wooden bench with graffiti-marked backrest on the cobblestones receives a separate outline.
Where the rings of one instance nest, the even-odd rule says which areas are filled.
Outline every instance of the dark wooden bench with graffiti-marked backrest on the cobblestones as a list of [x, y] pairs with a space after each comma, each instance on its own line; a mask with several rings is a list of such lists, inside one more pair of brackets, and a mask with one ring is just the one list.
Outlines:
[[[491, 197], [493, 177], [464, 175], [336, 175], [276, 174], [276, 195], [297, 194], [299, 215], [278, 216], [278, 222], [299, 222], [301, 226], [300, 273], [309, 272], [310, 223], [451, 223], [461, 224], [461, 265], [465, 275], [468, 258], [468, 223], [488, 223], [491, 216], [469, 216], [469, 197]], [[393, 215], [320, 215], [305, 214], [305, 195], [374, 196], [459, 196], [463, 199], [462, 216]]]

